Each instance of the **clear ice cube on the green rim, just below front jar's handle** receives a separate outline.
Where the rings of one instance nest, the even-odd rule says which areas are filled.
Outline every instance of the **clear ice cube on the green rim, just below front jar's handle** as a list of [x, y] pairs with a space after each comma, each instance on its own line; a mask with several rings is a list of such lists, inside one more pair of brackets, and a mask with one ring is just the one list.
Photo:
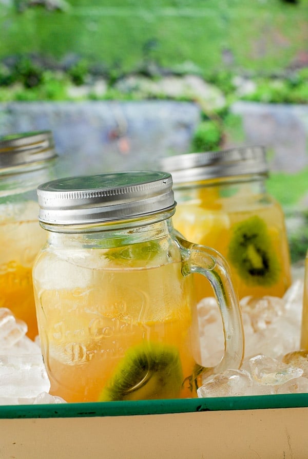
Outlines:
[[229, 397], [246, 395], [253, 385], [251, 375], [245, 370], [226, 370], [217, 374], [197, 390], [198, 397]]

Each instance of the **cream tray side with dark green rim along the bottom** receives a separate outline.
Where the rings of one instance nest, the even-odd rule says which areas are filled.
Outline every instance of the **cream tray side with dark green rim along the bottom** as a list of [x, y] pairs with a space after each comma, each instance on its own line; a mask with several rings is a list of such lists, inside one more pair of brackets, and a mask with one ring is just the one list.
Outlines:
[[308, 457], [308, 394], [0, 407], [0, 457]]

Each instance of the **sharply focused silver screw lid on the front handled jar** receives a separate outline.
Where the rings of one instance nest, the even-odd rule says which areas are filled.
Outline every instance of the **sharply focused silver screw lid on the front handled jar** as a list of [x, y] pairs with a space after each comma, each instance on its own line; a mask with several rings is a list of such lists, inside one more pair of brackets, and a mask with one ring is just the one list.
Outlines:
[[132, 171], [67, 177], [37, 188], [39, 219], [79, 225], [139, 218], [175, 207], [171, 175]]

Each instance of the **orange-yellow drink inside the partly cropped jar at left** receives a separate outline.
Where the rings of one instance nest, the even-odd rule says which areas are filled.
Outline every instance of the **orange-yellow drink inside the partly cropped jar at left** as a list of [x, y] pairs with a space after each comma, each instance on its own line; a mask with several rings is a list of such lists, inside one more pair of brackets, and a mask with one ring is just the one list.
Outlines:
[[37, 221], [35, 202], [0, 206], [0, 307], [10, 309], [38, 334], [32, 284], [32, 266], [46, 234]]

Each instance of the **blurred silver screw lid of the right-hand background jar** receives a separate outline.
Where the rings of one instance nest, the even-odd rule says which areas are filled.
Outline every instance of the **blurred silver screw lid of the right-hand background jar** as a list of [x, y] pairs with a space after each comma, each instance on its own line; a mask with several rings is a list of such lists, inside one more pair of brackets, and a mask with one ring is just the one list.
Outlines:
[[205, 151], [164, 158], [161, 168], [172, 174], [175, 184], [246, 174], [267, 174], [262, 146]]

